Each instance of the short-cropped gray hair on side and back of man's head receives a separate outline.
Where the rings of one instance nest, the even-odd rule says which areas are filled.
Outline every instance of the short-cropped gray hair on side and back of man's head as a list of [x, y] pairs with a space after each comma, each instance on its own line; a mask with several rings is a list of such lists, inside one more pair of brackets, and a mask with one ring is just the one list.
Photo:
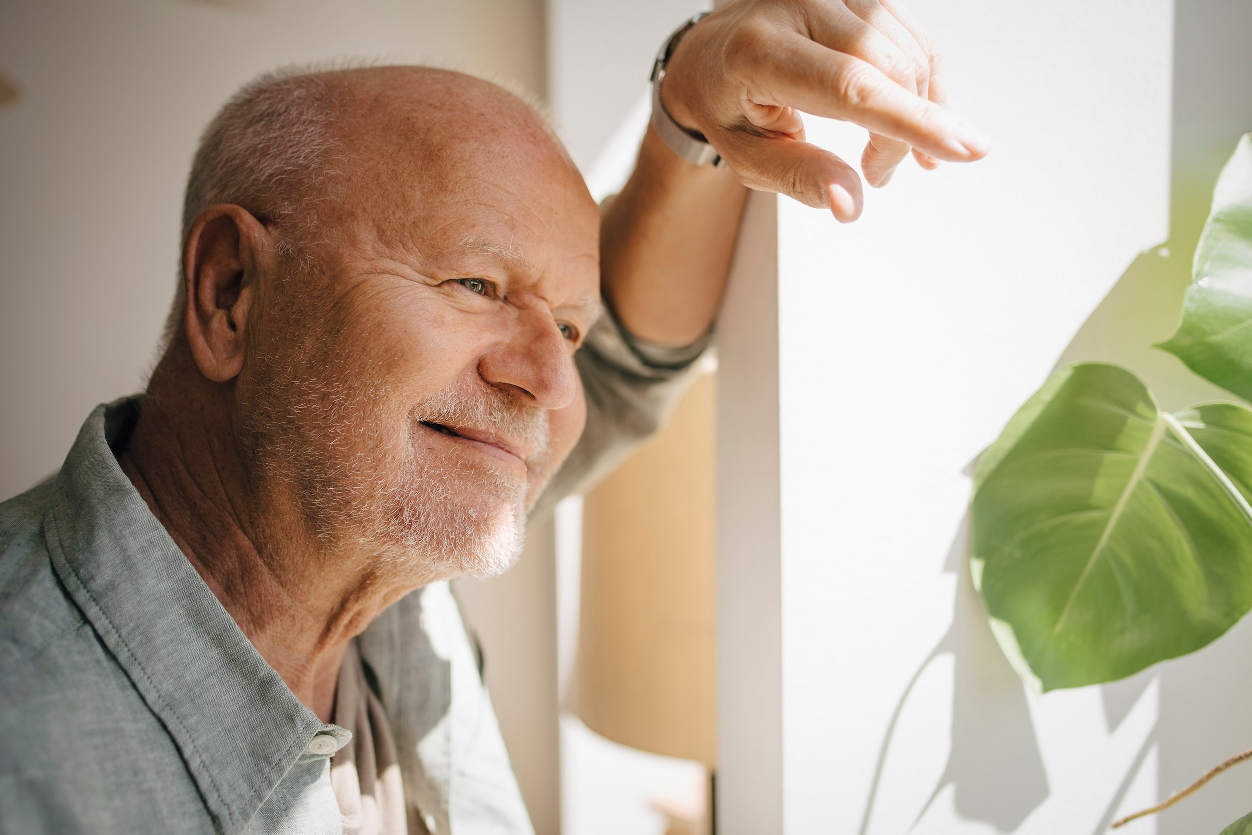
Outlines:
[[164, 346], [178, 336], [187, 309], [182, 258], [192, 225], [205, 209], [234, 203], [265, 222], [289, 227], [285, 239], [313, 225], [318, 187], [339, 144], [326, 71], [284, 66], [239, 89], [200, 136], [183, 198], [179, 282], [165, 322]]

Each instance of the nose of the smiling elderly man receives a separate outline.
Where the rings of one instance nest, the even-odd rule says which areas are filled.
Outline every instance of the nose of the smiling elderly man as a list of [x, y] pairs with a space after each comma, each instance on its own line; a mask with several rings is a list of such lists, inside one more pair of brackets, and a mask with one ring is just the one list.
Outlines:
[[478, 362], [478, 373], [545, 409], [565, 408], [578, 391], [570, 343], [542, 305], [518, 313], [511, 338]]

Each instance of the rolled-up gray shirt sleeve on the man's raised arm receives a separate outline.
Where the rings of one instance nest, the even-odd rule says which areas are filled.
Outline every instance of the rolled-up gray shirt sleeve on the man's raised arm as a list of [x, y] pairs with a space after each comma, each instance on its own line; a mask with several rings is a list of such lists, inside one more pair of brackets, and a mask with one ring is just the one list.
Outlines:
[[606, 303], [605, 314], [575, 354], [587, 399], [586, 428], [531, 518], [591, 488], [665, 426], [691, 382], [696, 361], [711, 344], [712, 332], [682, 348], [651, 344], [627, 332]]

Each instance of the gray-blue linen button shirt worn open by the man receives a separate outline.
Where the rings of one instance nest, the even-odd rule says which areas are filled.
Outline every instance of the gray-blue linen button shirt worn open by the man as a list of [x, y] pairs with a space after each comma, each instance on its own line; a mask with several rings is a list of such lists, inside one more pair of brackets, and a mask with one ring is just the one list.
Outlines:
[[[587, 429], [536, 512], [654, 432], [702, 347], [601, 319], [577, 354]], [[0, 505], [0, 832], [338, 835], [329, 764], [351, 735], [292, 694], [118, 466], [140, 408], [98, 407], [61, 471]], [[531, 832], [448, 585], [357, 641], [427, 829]]]

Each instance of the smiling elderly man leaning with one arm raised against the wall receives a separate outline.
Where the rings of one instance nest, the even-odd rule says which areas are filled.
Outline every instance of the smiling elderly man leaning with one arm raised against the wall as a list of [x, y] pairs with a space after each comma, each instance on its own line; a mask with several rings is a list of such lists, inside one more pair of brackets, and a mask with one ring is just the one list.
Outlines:
[[731, 4], [662, 50], [603, 219], [485, 81], [244, 88], [145, 394], [0, 507], [0, 831], [528, 831], [446, 581], [656, 428], [745, 184], [859, 214], [796, 109], [866, 126], [874, 185], [985, 153], [935, 68], [890, 0]]

